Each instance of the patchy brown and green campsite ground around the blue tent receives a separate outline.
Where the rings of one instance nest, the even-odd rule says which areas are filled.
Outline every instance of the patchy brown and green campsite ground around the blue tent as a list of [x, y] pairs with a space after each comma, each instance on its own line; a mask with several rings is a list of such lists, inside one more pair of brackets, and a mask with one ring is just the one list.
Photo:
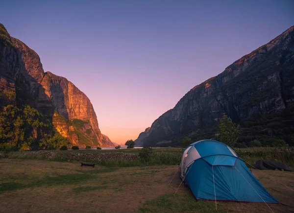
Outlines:
[[[0, 159], [0, 212], [168, 213], [214, 212], [214, 201], [197, 201], [181, 186], [178, 166], [81, 167], [78, 162]], [[281, 204], [275, 213], [294, 212], [294, 191], [252, 170]], [[264, 171], [294, 189], [294, 172]], [[218, 212], [271, 212], [264, 203], [217, 202]]]

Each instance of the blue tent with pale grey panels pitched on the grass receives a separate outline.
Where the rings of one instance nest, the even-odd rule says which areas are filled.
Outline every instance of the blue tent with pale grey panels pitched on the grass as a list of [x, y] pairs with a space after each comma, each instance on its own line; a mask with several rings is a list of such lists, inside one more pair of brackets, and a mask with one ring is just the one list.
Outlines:
[[196, 199], [279, 203], [222, 142], [203, 140], [187, 146], [180, 173]]

